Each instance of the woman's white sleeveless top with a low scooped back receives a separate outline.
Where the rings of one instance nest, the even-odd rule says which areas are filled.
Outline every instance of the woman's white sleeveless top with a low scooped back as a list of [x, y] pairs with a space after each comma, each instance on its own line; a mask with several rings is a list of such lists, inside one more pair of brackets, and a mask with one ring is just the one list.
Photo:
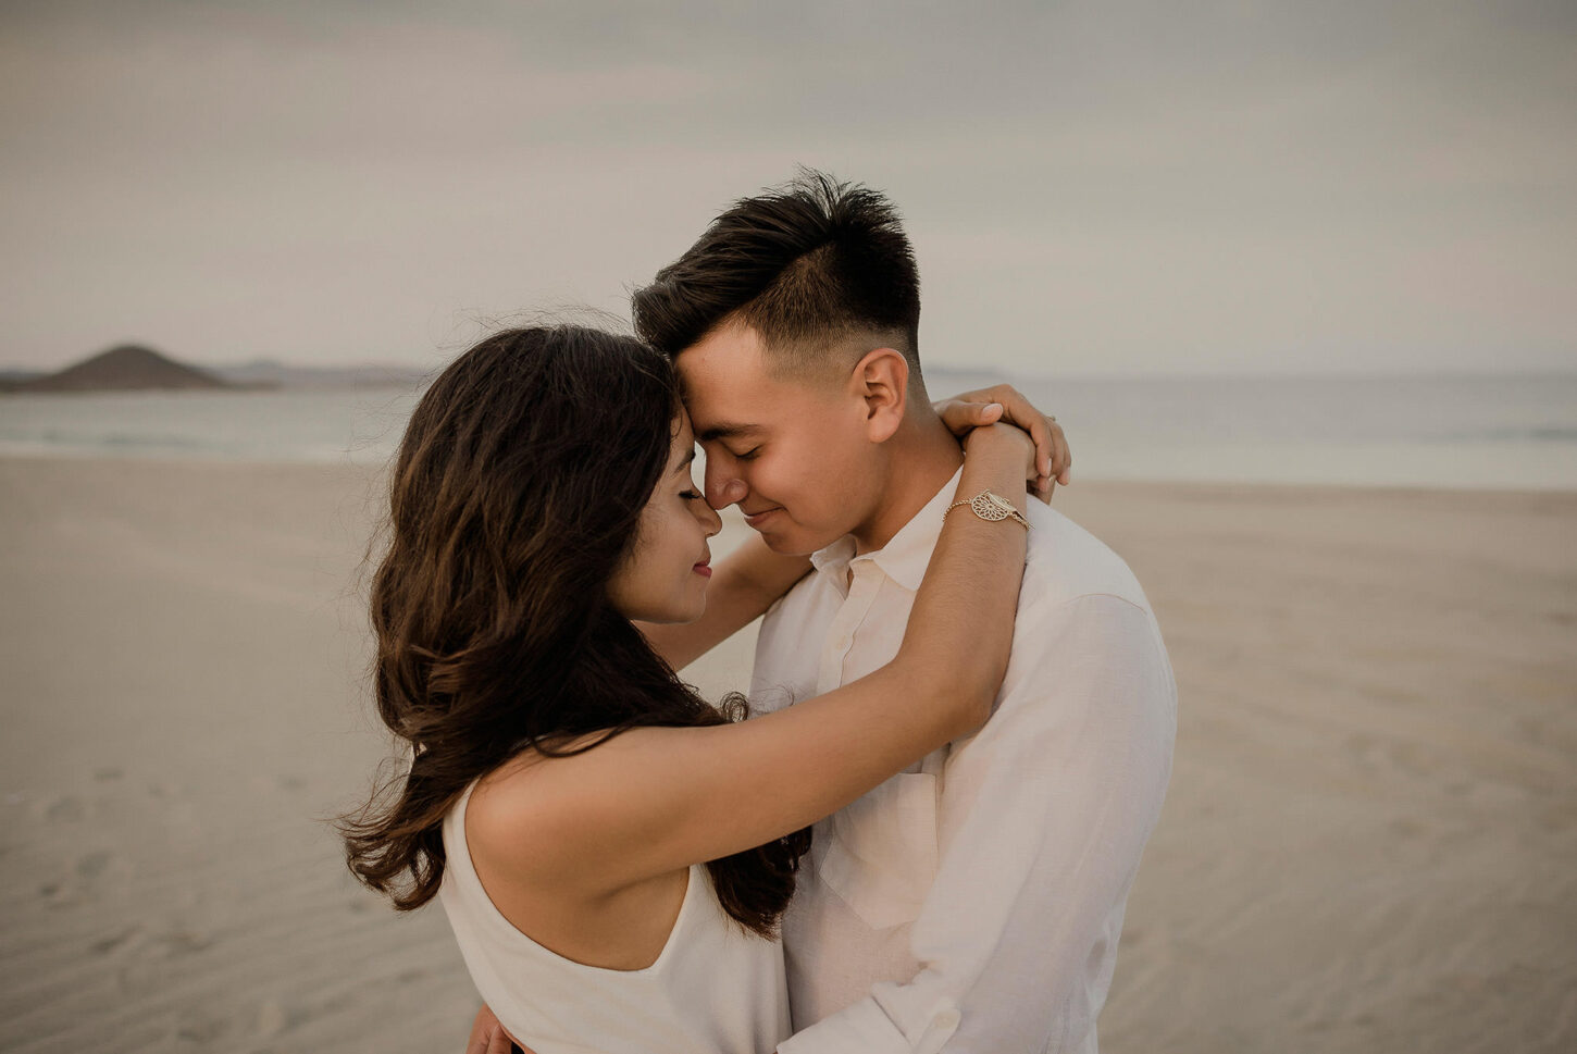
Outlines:
[[438, 898], [476, 991], [516, 1038], [536, 1054], [770, 1054], [788, 1037], [782, 945], [722, 910], [703, 865], [643, 970], [582, 966], [516, 929], [465, 846], [475, 786], [443, 820]]

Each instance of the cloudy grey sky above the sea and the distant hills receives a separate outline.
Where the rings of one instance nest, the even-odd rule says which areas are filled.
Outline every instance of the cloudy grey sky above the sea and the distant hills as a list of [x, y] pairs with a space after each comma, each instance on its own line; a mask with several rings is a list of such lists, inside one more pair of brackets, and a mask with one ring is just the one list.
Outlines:
[[809, 164], [927, 361], [1572, 369], [1574, 99], [1569, 0], [6, 2], [0, 366], [432, 364]]

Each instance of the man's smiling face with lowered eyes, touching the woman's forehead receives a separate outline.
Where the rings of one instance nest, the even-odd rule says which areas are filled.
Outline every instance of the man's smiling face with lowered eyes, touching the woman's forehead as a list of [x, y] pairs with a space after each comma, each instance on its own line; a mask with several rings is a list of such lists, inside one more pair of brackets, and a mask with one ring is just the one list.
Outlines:
[[853, 532], [875, 506], [875, 443], [848, 383], [774, 377], [760, 335], [724, 325], [675, 360], [706, 500], [738, 505], [776, 552], [807, 554]]

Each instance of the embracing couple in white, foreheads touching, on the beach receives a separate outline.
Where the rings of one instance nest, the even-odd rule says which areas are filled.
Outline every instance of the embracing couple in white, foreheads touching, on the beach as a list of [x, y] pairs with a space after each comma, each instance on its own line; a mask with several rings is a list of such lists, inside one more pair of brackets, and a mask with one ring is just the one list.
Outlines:
[[[352, 869], [443, 903], [476, 1051], [1096, 1051], [1176, 693], [1128, 566], [1031, 500], [1060, 429], [930, 402], [897, 215], [818, 174], [634, 317], [494, 335], [416, 407], [372, 587], [408, 770]], [[740, 719], [675, 671], [763, 612]]]

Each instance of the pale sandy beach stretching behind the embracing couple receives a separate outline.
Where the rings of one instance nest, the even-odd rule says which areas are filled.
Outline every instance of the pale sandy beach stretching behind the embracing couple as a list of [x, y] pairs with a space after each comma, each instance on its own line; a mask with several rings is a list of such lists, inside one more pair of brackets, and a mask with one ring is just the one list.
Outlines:
[[[356, 467], [0, 459], [0, 1049], [464, 1048], [325, 817]], [[1577, 1049], [1577, 494], [1077, 483], [1180, 686], [1102, 1049]], [[749, 633], [688, 671], [746, 682]]]

